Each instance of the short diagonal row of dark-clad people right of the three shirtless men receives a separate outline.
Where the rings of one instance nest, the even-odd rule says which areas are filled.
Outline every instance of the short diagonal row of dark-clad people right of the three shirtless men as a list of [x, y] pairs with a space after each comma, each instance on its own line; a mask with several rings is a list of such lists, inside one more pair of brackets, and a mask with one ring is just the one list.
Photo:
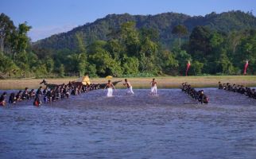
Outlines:
[[209, 102], [208, 96], [204, 94], [204, 90], [196, 91], [196, 89], [191, 87], [191, 85], [188, 83], [181, 83], [181, 85], [181, 91], [186, 92], [193, 99], [198, 100], [198, 102], [202, 104]]

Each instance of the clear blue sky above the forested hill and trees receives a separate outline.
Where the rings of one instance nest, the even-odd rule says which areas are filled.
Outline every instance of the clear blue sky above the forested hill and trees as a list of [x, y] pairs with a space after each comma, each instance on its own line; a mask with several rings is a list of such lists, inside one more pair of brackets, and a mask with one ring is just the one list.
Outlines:
[[229, 10], [252, 11], [255, 0], [0, 0], [0, 13], [15, 25], [27, 21], [33, 41], [66, 32], [107, 14], [161, 14], [176, 12], [205, 15]]

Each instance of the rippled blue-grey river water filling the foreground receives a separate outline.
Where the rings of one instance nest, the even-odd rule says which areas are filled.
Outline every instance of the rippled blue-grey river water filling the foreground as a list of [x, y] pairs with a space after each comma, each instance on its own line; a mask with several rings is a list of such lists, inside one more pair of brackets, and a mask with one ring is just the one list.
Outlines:
[[33, 107], [0, 107], [0, 158], [255, 158], [256, 100], [205, 88], [103, 90]]

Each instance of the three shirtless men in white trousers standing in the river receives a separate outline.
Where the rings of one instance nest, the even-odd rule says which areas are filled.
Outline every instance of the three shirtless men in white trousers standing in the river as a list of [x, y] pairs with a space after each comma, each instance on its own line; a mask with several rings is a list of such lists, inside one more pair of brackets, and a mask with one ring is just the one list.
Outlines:
[[[151, 92], [150, 95], [157, 95], [157, 81], [155, 79], [153, 79], [151, 82]], [[124, 86], [127, 87], [127, 92], [126, 94], [132, 94], [134, 95], [134, 91], [133, 91], [133, 87], [130, 84], [130, 82], [128, 82], [127, 79], [125, 79], [125, 83], [123, 83]], [[113, 96], [113, 89], [115, 90], [114, 84], [111, 83], [111, 80], [108, 80], [106, 87], [104, 87], [104, 89], [107, 88], [107, 97], [111, 97]]]

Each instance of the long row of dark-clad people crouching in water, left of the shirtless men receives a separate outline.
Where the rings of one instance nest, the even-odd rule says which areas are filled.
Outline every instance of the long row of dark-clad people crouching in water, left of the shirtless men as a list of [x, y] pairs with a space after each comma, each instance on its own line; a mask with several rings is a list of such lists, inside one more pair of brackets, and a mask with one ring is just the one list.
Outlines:
[[[37, 91], [31, 89], [29, 91], [28, 87], [25, 87], [24, 91], [18, 91], [15, 95], [14, 92], [10, 94], [8, 103], [17, 103], [22, 100], [33, 99], [33, 105], [39, 106], [41, 105], [41, 97], [43, 97], [44, 102], [54, 102], [59, 99], [68, 98], [69, 95], [80, 95], [81, 93], [92, 91], [99, 89], [99, 84], [77, 84], [77, 83], [68, 83], [68, 84], [60, 84], [55, 85], [53, 88], [45, 87], [43, 90], [42, 87], [39, 87]], [[2, 93], [0, 96], [0, 106], [6, 105], [6, 91]]]

